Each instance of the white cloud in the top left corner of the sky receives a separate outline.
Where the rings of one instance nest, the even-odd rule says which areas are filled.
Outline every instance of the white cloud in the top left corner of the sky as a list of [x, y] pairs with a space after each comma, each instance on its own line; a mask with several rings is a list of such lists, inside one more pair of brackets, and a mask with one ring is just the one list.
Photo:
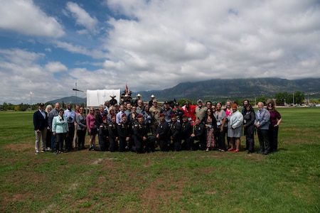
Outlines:
[[55, 18], [47, 16], [31, 0], [0, 0], [0, 28], [26, 35], [59, 38], [65, 35]]

